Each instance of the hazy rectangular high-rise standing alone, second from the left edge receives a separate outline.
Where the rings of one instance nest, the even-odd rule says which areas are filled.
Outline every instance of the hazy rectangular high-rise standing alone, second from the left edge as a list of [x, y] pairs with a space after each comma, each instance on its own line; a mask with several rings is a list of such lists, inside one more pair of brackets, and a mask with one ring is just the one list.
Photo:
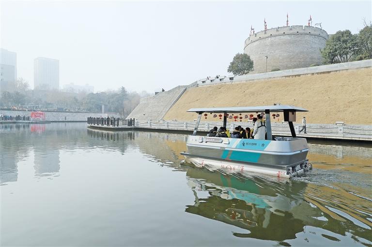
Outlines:
[[33, 61], [33, 87], [60, 89], [60, 61], [52, 58], [35, 58]]

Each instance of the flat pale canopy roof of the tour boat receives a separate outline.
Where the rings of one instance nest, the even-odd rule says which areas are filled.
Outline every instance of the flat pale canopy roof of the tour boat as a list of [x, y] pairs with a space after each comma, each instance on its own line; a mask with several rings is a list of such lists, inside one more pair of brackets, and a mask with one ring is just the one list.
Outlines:
[[243, 106], [243, 107], [214, 107], [214, 108], [191, 108], [187, 112], [212, 112], [212, 113], [254, 113], [254, 112], [264, 112], [269, 110], [270, 112], [307, 112], [308, 110], [296, 107], [292, 105], [263, 105], [263, 106]]

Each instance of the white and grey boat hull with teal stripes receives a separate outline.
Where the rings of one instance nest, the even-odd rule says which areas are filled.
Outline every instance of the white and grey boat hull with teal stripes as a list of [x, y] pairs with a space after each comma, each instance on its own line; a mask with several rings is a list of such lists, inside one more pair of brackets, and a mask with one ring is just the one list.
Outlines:
[[186, 161], [238, 173], [293, 177], [311, 169], [306, 139], [280, 141], [189, 136]]

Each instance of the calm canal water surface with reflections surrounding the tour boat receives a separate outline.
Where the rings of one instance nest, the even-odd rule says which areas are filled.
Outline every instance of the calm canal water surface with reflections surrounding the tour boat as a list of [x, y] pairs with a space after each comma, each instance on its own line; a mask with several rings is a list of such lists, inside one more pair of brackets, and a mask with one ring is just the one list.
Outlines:
[[0, 246], [372, 246], [371, 145], [278, 180], [181, 162], [186, 135], [1, 124]]

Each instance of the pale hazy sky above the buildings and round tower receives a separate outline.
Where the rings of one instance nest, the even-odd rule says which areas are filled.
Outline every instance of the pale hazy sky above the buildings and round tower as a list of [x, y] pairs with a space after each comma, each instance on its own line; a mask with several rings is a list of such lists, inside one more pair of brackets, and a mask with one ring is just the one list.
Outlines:
[[33, 59], [60, 60], [60, 86], [90, 84], [154, 92], [227, 74], [256, 32], [321, 22], [328, 34], [357, 33], [368, 1], [6, 1], [0, 46], [17, 53], [17, 75], [33, 87]]

